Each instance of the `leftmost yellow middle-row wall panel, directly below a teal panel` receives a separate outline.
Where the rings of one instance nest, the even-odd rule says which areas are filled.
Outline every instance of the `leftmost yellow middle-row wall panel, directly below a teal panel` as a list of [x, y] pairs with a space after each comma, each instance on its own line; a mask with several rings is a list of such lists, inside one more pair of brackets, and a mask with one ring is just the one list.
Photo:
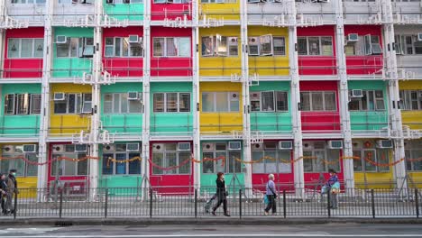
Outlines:
[[[87, 85], [55, 84], [51, 86], [51, 95], [54, 93], [91, 93]], [[50, 103], [50, 134], [73, 134], [81, 130], [88, 132], [91, 124], [89, 115], [54, 114], [54, 101]]]

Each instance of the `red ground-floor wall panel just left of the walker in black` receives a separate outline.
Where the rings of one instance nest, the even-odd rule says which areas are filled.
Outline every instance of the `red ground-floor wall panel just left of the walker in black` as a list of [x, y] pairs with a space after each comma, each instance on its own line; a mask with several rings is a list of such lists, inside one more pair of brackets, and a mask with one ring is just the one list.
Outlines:
[[[154, 142], [155, 143], [155, 142]], [[160, 142], [158, 142], [160, 143]], [[169, 142], [161, 142], [161, 143], [169, 143]], [[170, 142], [171, 143], [171, 142]], [[174, 142], [173, 142], [174, 143]], [[190, 148], [193, 148], [192, 142], [190, 142]], [[150, 146], [150, 158], [152, 158], [152, 143]], [[152, 174], [152, 166], [150, 165], [150, 182], [151, 187], [154, 191], [158, 191], [159, 193], [171, 193], [171, 194], [188, 194], [188, 192], [192, 192], [192, 188], [194, 185], [194, 177], [193, 177], [193, 168], [195, 164], [190, 162], [190, 175], [153, 175]], [[168, 188], [162, 188], [168, 187]]]

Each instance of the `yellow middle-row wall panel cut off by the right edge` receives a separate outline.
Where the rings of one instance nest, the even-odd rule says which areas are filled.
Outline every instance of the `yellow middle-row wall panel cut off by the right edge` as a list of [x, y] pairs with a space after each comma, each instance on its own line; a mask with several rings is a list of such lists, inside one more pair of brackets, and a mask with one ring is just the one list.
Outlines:
[[[422, 80], [408, 80], [399, 82], [400, 90], [422, 90]], [[422, 130], [422, 111], [401, 111], [404, 125], [411, 129]]]

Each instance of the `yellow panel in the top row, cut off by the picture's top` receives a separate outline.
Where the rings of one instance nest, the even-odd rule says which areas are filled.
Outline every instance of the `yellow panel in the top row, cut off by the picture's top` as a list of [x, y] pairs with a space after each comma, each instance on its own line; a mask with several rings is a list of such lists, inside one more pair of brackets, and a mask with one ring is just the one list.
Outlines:
[[[212, 18], [216, 20], [240, 20], [240, 1], [232, 0], [233, 4], [199, 4], [199, 19]], [[228, 1], [226, 1], [228, 2]]]

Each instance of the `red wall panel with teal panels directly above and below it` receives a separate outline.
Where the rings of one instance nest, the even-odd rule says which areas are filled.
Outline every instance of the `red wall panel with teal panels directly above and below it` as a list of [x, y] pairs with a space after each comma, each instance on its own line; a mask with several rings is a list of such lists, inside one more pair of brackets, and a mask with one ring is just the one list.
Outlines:
[[[103, 45], [105, 46], [105, 37], [128, 37], [129, 35], [143, 36], [141, 26], [129, 26], [118, 28], [105, 28], [103, 34]], [[104, 47], [105, 50], [105, 47]], [[103, 56], [104, 56], [103, 51]], [[142, 58], [105, 58], [103, 57], [104, 69], [112, 76], [117, 77], [142, 77]]]

